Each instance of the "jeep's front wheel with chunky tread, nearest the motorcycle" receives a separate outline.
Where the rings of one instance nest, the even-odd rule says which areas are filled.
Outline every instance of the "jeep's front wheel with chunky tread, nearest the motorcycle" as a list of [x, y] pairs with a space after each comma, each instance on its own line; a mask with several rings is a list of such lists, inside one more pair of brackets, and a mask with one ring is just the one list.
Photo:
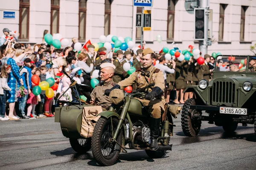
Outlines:
[[181, 114], [182, 131], [186, 136], [197, 136], [202, 122], [193, 119], [193, 115], [201, 113], [198, 113], [195, 109], [190, 109], [191, 105], [195, 105], [195, 99], [187, 99], [184, 103]]

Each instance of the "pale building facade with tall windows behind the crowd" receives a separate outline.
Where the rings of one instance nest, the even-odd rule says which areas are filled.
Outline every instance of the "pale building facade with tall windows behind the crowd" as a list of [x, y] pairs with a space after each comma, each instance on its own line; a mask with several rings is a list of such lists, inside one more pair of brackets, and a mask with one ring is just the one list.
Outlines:
[[[141, 7], [134, 0], [0, 0], [0, 30], [9, 28], [20, 34], [20, 42], [41, 43], [44, 30], [68, 38], [79, 37], [99, 42], [100, 35], [131, 37], [140, 45], [141, 28], [136, 28], [136, 14]], [[208, 54], [248, 55], [256, 43], [256, 0], [209, 0], [209, 23], [212, 45]], [[185, 0], [153, 0], [151, 31], [143, 32], [146, 47], [160, 51], [163, 47], [198, 48], [194, 41], [194, 14], [187, 11]], [[6, 11], [15, 18], [6, 18]], [[157, 42], [157, 35], [162, 42]], [[173, 42], [175, 44], [173, 45]]]

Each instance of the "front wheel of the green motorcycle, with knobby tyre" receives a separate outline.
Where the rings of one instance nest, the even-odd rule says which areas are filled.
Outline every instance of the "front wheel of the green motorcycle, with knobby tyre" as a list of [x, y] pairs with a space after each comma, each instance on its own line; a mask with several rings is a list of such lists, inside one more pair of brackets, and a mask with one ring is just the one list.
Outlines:
[[[112, 118], [113, 133], [118, 122], [118, 119]], [[122, 145], [123, 131], [120, 131], [116, 142], [110, 142], [110, 139], [113, 138], [113, 133], [111, 119], [99, 118], [93, 130], [92, 151], [96, 161], [104, 166], [113, 165], [118, 159], [121, 150], [121, 147], [116, 142]]]

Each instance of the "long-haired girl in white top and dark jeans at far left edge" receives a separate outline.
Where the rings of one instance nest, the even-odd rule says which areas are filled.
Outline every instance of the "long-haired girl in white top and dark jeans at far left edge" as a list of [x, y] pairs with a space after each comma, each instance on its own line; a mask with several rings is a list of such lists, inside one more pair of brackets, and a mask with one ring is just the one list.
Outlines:
[[6, 108], [6, 91], [12, 91], [12, 89], [7, 85], [8, 74], [11, 72], [11, 65], [3, 65], [0, 74], [0, 120], [9, 120], [5, 116]]

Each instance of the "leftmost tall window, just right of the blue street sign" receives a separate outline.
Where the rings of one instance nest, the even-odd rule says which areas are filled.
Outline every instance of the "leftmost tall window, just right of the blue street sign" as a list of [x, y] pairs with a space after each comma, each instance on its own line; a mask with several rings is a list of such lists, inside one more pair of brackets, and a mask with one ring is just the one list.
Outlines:
[[29, 0], [20, 0], [19, 33], [20, 40], [29, 40]]

